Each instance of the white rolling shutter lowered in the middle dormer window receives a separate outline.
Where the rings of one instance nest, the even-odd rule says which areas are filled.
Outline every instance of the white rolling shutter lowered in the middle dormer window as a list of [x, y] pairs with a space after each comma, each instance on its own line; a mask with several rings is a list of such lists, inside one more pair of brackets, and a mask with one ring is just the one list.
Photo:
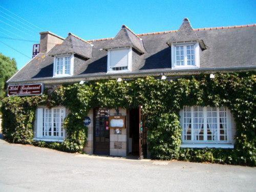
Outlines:
[[128, 66], [128, 52], [129, 49], [112, 50], [110, 66], [112, 68]]

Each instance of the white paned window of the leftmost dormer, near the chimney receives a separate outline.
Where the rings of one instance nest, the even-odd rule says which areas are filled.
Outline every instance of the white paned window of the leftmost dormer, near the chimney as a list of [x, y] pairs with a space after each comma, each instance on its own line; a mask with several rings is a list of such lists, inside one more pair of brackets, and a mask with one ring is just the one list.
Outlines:
[[74, 56], [67, 55], [54, 58], [54, 75], [53, 76], [70, 76], [73, 75]]

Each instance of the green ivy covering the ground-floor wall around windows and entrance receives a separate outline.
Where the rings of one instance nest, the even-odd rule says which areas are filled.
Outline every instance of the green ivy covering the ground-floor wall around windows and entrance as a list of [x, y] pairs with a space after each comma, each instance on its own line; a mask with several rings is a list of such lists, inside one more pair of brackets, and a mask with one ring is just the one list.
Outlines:
[[[96, 106], [136, 108], [143, 105], [152, 158], [179, 159], [255, 166], [255, 72], [216, 74], [160, 80], [92, 81], [64, 84], [42, 96], [7, 97], [3, 100], [3, 134], [7, 141], [34, 144], [68, 152], [82, 152], [87, 140], [83, 119]], [[63, 105], [70, 110], [63, 143], [33, 140], [37, 106]], [[184, 105], [227, 106], [237, 125], [234, 149], [181, 148], [179, 111]]]

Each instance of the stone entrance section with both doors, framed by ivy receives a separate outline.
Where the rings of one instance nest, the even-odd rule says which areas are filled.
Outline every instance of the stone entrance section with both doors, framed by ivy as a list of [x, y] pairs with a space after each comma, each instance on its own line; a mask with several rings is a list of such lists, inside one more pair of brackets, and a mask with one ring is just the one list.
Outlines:
[[[143, 128], [140, 126], [139, 108], [130, 110], [95, 108], [89, 111], [88, 117], [91, 123], [87, 125], [88, 138], [84, 152], [90, 155], [142, 158], [143, 155], [140, 154], [145, 145], [142, 146], [142, 138], [140, 138], [140, 135], [143, 136], [140, 134]], [[124, 126], [122, 128], [111, 126], [113, 123], [111, 124], [110, 119], [113, 117], [124, 118]]]

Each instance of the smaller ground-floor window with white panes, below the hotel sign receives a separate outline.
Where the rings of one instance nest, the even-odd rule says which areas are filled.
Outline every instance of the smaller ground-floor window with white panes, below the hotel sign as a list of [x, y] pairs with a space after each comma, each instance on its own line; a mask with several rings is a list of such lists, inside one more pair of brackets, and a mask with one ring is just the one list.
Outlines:
[[38, 108], [36, 137], [42, 139], [63, 139], [65, 108]]

